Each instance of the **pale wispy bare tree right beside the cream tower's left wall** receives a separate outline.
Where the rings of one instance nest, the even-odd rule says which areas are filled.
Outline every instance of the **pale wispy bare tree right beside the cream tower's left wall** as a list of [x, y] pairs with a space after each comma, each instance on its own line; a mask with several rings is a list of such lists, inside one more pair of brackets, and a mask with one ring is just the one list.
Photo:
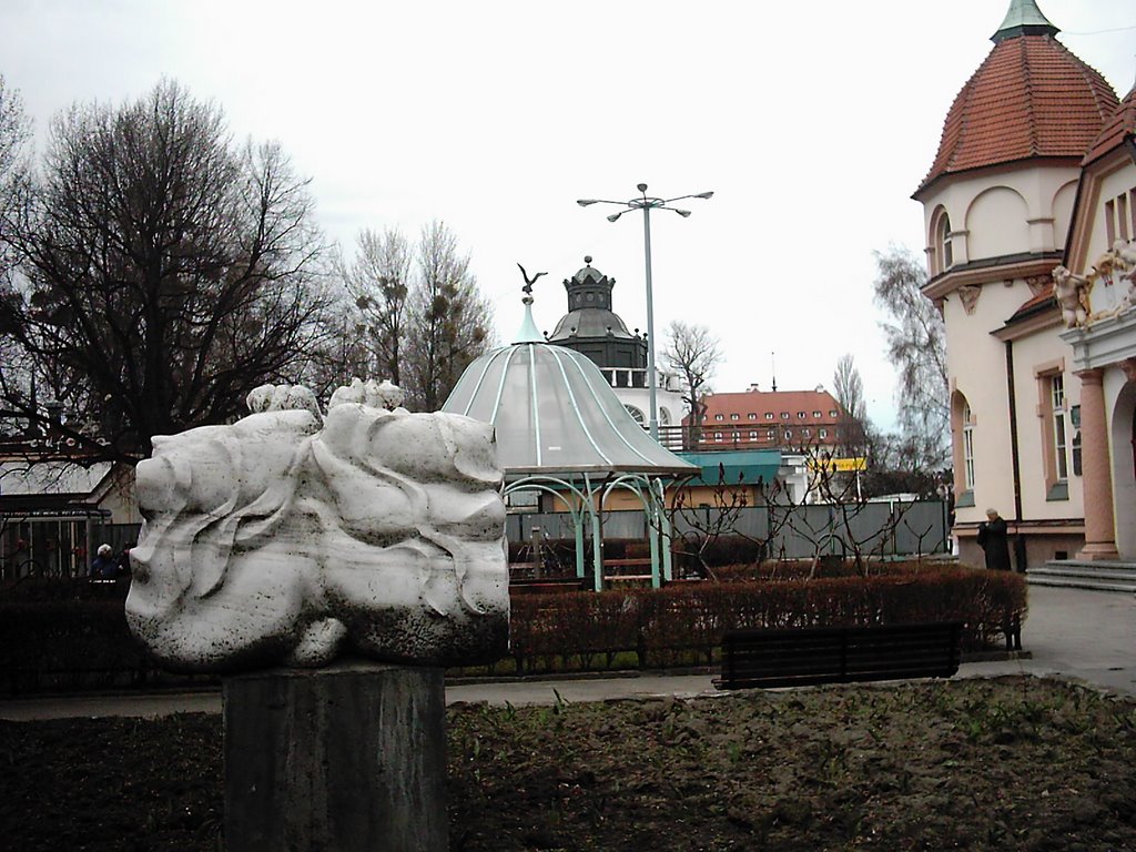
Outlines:
[[887, 358], [900, 376], [900, 426], [908, 445], [925, 453], [919, 467], [939, 468], [949, 459], [946, 326], [922, 293], [927, 273], [914, 254], [891, 245], [876, 252], [876, 266], [875, 300], [889, 317], [880, 323]]

